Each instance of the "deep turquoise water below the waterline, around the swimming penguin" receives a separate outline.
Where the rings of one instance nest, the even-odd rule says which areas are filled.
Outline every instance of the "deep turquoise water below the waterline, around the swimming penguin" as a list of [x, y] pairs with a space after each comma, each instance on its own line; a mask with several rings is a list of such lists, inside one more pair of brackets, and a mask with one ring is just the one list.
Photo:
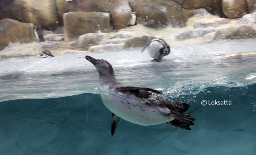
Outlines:
[[[163, 90], [167, 92], [168, 90]], [[255, 154], [256, 84], [213, 86], [176, 96], [191, 105], [192, 130], [122, 120], [110, 134], [111, 112], [99, 94], [20, 99], [0, 104], [1, 154]], [[206, 105], [202, 100], [232, 105]]]

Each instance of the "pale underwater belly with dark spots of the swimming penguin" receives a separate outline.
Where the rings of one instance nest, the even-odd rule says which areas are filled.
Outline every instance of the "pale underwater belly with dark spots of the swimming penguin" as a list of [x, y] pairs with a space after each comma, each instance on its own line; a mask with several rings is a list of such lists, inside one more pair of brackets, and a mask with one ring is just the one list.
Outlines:
[[109, 93], [103, 93], [100, 96], [108, 110], [134, 124], [146, 126], [174, 120], [171, 116], [163, 115], [163, 111], [166, 109], [146, 105], [142, 100], [138, 100], [138, 98], [128, 99]]

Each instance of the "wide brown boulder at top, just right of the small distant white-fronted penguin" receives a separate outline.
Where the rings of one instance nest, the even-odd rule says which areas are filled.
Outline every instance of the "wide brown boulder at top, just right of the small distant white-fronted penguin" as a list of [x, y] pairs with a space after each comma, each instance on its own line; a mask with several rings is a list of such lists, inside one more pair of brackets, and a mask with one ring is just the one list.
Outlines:
[[129, 0], [132, 11], [137, 12], [137, 23], [152, 28], [184, 27], [181, 4], [170, 0]]

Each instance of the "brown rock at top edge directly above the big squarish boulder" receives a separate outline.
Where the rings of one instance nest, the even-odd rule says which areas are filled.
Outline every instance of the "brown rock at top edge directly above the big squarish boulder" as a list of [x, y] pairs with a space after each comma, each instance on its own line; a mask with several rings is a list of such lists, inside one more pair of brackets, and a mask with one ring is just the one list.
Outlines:
[[60, 17], [68, 12], [108, 12], [111, 0], [56, 0], [57, 10], [60, 12]]

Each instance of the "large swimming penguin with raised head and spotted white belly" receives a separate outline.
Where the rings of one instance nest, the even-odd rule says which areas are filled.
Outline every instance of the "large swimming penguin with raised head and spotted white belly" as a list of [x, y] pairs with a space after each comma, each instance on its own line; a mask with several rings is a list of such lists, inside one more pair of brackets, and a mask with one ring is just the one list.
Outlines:
[[111, 134], [114, 135], [121, 119], [139, 125], [172, 124], [178, 128], [191, 130], [195, 120], [188, 114], [189, 105], [161, 99], [162, 93], [150, 88], [124, 86], [117, 82], [109, 62], [85, 56], [99, 72], [99, 86], [106, 93], [101, 99], [112, 112]]

